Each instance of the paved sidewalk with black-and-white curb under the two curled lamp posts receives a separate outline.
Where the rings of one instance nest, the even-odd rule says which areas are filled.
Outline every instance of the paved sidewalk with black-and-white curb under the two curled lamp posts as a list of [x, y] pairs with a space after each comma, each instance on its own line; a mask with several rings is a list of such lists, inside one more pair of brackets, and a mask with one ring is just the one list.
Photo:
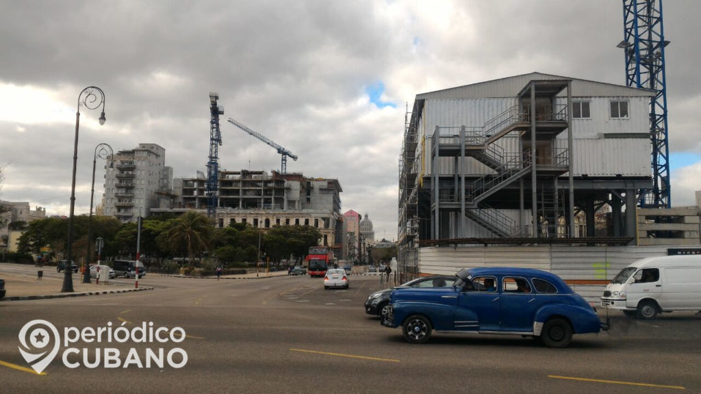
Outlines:
[[26, 299], [47, 299], [47, 298], [62, 298], [62, 297], [80, 297], [86, 295], [98, 294], [116, 294], [123, 292], [135, 292], [141, 290], [153, 290], [153, 287], [143, 287], [139, 289], [124, 285], [107, 284], [101, 282], [100, 285], [95, 284], [95, 279], [91, 283], [83, 283], [83, 277], [73, 275], [73, 292], [61, 292], [63, 279], [47, 278], [42, 280], [29, 278], [28, 276], [20, 276], [4, 273], [2, 278], [5, 280], [6, 294], [2, 301], [20, 301]]

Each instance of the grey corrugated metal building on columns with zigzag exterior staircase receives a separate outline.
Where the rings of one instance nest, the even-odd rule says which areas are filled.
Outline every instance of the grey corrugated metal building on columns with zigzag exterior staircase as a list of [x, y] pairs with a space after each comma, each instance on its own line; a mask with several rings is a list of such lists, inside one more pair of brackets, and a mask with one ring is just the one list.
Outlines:
[[634, 208], [653, 186], [654, 94], [536, 72], [416, 95], [400, 156], [400, 269], [421, 272], [419, 245], [634, 244]]

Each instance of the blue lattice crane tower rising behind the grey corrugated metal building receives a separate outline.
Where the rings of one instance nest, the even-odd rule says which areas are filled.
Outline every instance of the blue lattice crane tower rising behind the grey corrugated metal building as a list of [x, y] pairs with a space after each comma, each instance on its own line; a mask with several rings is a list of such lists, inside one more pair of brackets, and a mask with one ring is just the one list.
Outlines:
[[655, 91], [650, 103], [653, 190], [643, 190], [641, 207], [672, 208], [669, 188], [669, 145], [665, 41], [662, 0], [623, 0], [623, 36], [627, 86]]

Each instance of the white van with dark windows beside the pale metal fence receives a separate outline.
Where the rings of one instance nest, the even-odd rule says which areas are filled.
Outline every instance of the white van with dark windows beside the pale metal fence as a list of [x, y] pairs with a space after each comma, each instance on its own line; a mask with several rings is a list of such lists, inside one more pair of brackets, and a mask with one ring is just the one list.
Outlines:
[[701, 254], [648, 257], [630, 264], [606, 285], [601, 306], [642, 319], [701, 311]]

